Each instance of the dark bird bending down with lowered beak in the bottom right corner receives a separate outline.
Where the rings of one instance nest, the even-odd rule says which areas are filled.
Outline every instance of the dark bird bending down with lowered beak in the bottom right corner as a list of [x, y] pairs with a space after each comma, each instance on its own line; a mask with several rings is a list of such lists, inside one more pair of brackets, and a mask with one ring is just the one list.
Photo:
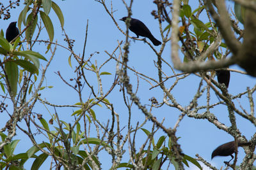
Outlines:
[[[252, 143], [250, 142], [237, 142], [237, 147], [239, 146], [250, 146]], [[213, 152], [212, 152], [212, 159], [216, 156], [231, 156], [232, 159], [234, 159], [234, 156], [232, 155], [235, 153], [236, 146], [235, 146], [235, 141], [230, 141], [228, 143], [224, 143], [223, 145], [218, 146]], [[230, 159], [228, 162], [224, 162], [225, 164], [228, 164], [232, 159]]]

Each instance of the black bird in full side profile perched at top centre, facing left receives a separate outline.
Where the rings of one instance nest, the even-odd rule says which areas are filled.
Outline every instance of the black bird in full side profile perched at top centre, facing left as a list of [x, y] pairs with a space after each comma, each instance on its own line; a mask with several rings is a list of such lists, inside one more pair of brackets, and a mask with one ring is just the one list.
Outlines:
[[[120, 20], [125, 22], [126, 18], [127, 17], [123, 17]], [[150, 41], [152, 41], [154, 45], [161, 45], [161, 42], [154, 38], [148, 27], [140, 20], [131, 18], [129, 29], [136, 34], [137, 38], [139, 38], [139, 36], [147, 37], [150, 39]]]

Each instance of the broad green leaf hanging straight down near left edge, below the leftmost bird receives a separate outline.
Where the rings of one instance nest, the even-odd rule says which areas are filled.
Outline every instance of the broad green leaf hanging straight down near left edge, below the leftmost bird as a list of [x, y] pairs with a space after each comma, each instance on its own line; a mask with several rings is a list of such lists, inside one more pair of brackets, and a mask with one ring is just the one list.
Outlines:
[[4, 64], [4, 69], [8, 77], [8, 81], [11, 87], [11, 93], [13, 96], [17, 94], [17, 83], [19, 78], [19, 69], [17, 64], [12, 61], [8, 61]]

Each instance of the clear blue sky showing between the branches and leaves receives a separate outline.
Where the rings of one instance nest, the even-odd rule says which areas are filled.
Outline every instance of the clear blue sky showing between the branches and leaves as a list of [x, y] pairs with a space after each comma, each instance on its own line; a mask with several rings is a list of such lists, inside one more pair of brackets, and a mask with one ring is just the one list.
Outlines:
[[[87, 20], [89, 20], [88, 39], [85, 52], [86, 59], [90, 56], [91, 53], [99, 52], [99, 54], [93, 55], [91, 61], [94, 62], [95, 60], [97, 60], [98, 65], [100, 65], [106, 59], [108, 59], [108, 55], [106, 55], [104, 51], [106, 50], [109, 53], [112, 53], [118, 45], [117, 41], [125, 40], [124, 34], [122, 34], [122, 32], [120, 32], [116, 28], [115, 24], [113, 23], [113, 20], [111, 19], [111, 17], [109, 17], [109, 15], [104, 10], [104, 7], [100, 3], [97, 3], [93, 0], [66, 0], [54, 2], [57, 3], [63, 11], [63, 15], [65, 18], [64, 28], [69, 38], [76, 39], [74, 43], [75, 53], [83, 53], [86, 22]], [[108, 7], [110, 8], [109, 4], [110, 3], [108, 3]], [[192, 7], [192, 10], [195, 10], [197, 8], [195, 4], [190, 5]], [[3, 29], [3, 31], [5, 32], [10, 22], [17, 21], [19, 13], [23, 8], [24, 4], [20, 4], [20, 6], [17, 9], [10, 11], [12, 15], [10, 20], [0, 20], [0, 29]], [[230, 8], [233, 8], [232, 4], [230, 4]], [[148, 29], [150, 29], [152, 34], [155, 36], [155, 38], [162, 41], [159, 32], [158, 21], [155, 20], [154, 17], [150, 14], [152, 10], [156, 9], [156, 4], [152, 3], [152, 1], [137, 0], [134, 1], [134, 4], [132, 6], [132, 17], [138, 18], [141, 21], [143, 21], [145, 25], [147, 25]], [[113, 10], [116, 10], [115, 18], [116, 20], [118, 20], [119, 26], [125, 31], [125, 23], [119, 21], [119, 18], [127, 16], [127, 10], [125, 9], [124, 4], [122, 4], [122, 1], [113, 1]], [[54, 41], [58, 41], [58, 43], [65, 46], [66, 43], [65, 41], [63, 41], [65, 37], [63, 36], [63, 32], [61, 31], [60, 22], [58, 21], [58, 18], [56, 17], [53, 10], [51, 10], [50, 17], [54, 24]], [[163, 27], [165, 27], [166, 25], [166, 23], [163, 23]], [[23, 28], [24, 25], [22, 25], [22, 29]], [[44, 33], [40, 36], [39, 39], [47, 39], [46, 31], [44, 30], [43, 32]], [[135, 36], [132, 32], [130, 32], [130, 35]], [[42, 55], [44, 55], [46, 49], [45, 47], [46, 46], [44, 43], [40, 43], [36, 45], [33, 48], [33, 50], [35, 50], [36, 52], [40, 52]], [[156, 49], [159, 50], [160, 46], [156, 46]], [[156, 61], [157, 58], [152, 49], [147, 44], [143, 43], [143, 41], [136, 41], [135, 43], [131, 41], [129, 52], [130, 53], [128, 64], [130, 67], [134, 67], [140, 73], [152, 76], [153, 78], [157, 79], [157, 68], [154, 66], [154, 61]], [[54, 73], [60, 71], [63, 77], [67, 80], [76, 77], [76, 73], [74, 73], [74, 68], [72, 69], [68, 65], [69, 55], [70, 53], [67, 50], [58, 48], [56, 55], [54, 56], [54, 60], [52, 61], [51, 66], [47, 71], [47, 80], [45, 81], [44, 85], [46, 85], [47, 83], [47, 85], [52, 85], [54, 86], [54, 88], [44, 89], [41, 93], [43, 99], [47, 99], [47, 101], [53, 104], [74, 104], [79, 102], [79, 98], [76, 92], [68, 88], [67, 85], [65, 85], [60, 80], [60, 78]], [[50, 53], [47, 53], [45, 55], [47, 59], [49, 59], [50, 56]], [[170, 42], [166, 45], [162, 57], [164, 60], [172, 64], [170, 59]], [[74, 63], [74, 60], [72, 60], [72, 64]], [[45, 66], [46, 62], [42, 61], [41, 64], [42, 66]], [[106, 64], [106, 66], [104, 66], [102, 69], [102, 71], [108, 71], [109, 73], [112, 73], [112, 75], [102, 76], [102, 83], [104, 83], [104, 92], [107, 92], [107, 90], [109, 89], [109, 87], [111, 87], [113, 83], [116, 71], [115, 66], [116, 62], [111, 60], [111, 62]], [[163, 67], [166, 73], [172, 73], [171, 70], [168, 70], [168, 67]], [[231, 66], [230, 68], [241, 70], [241, 68], [237, 66]], [[179, 71], [177, 71], [177, 73], [179, 73]], [[97, 87], [96, 76], [94, 74], [88, 74], [86, 76], [88, 80], [91, 83], [94, 83], [95, 87]], [[136, 76], [134, 76], [134, 74], [131, 72], [129, 72], [129, 76], [131, 76], [131, 82], [133, 83], [133, 86], [135, 88], [135, 86], [137, 85]], [[171, 87], [174, 81], [175, 78], [166, 81], [166, 87]], [[196, 94], [196, 90], [198, 88], [199, 83], [200, 78], [191, 74], [191, 76], [189, 76], [188, 78], [179, 81], [178, 85], [172, 90], [172, 94], [173, 96], [175, 96], [175, 99], [177, 99], [178, 103], [182, 104], [182, 106], [188, 106], [189, 102]], [[206, 85], [205, 82], [204, 85]], [[246, 87], [253, 87], [253, 85], [255, 85], [255, 78], [232, 72], [228, 91], [230, 92], [230, 94], [235, 96], [239, 92], [245, 91]], [[163, 100], [164, 95], [163, 91], [159, 90], [159, 88], [155, 88], [152, 90], [149, 90], [149, 88], [150, 85], [148, 85], [148, 83], [144, 80], [140, 79], [138, 96], [141, 99], [141, 103], [150, 104], [150, 101], [148, 101], [148, 99], [150, 99], [151, 97], [156, 97], [157, 101], [161, 102]], [[86, 101], [87, 97], [90, 96], [90, 92], [88, 91], [89, 90], [87, 90], [87, 87], [83, 91], [84, 101]], [[0, 93], [2, 94], [3, 92]], [[218, 98], [216, 97], [214, 92], [212, 92], [212, 90], [211, 97], [211, 103], [218, 102]], [[255, 97], [255, 95], [253, 97]], [[128, 112], [127, 109], [124, 108], [122, 92], [119, 92], [118, 86], [113, 90], [113, 94], [108, 96], [108, 100], [110, 103], [113, 103], [115, 111], [119, 113], [120, 122], [122, 126], [124, 127], [125, 125], [127, 125]], [[199, 103], [204, 104], [205, 101], [206, 97], [204, 94], [204, 97], [200, 98]], [[248, 98], [246, 96], [243, 96], [241, 97], [241, 99], [238, 99], [236, 101], [239, 101], [243, 108], [250, 112], [250, 106], [248, 105]], [[51, 113], [54, 113], [53, 108], [49, 106], [47, 106], [47, 108], [51, 111]], [[12, 110], [12, 105], [9, 104], [8, 109]], [[76, 109], [57, 108], [56, 110], [59, 113], [59, 116], [62, 120], [71, 124], [73, 123], [74, 119], [70, 115]], [[100, 122], [104, 122], [104, 124], [106, 124], [107, 121], [111, 119], [111, 113], [106, 108], [100, 108], [98, 106], [95, 106], [93, 110], [95, 111], [96, 117], [99, 118]], [[45, 120], [49, 120], [51, 118], [43, 104], [36, 104], [36, 108], [34, 109], [34, 111], [36, 113], [41, 113]], [[214, 115], [216, 115], [220, 122], [227, 126], [230, 126], [226, 106], [218, 106], [212, 109], [211, 112], [214, 113]], [[177, 118], [180, 115], [179, 110], [167, 106], [158, 109], [153, 109], [152, 113], [154, 114], [154, 116], [157, 117], [159, 121], [165, 118], [164, 125], [166, 127], [173, 127], [173, 125], [177, 121]], [[3, 127], [3, 125], [5, 124], [7, 117], [8, 116], [6, 115], [6, 113], [0, 114], [0, 124], [2, 125], [1, 127]], [[244, 118], [239, 117], [239, 115], [236, 114], [236, 117], [237, 127], [240, 129], [242, 134], [246, 136], [247, 139], [250, 139], [250, 137], [253, 136], [253, 134], [255, 133], [255, 127], [251, 125], [248, 120], [244, 120]], [[144, 118], [145, 117], [143, 113], [141, 113], [141, 111], [138, 110], [138, 107], [134, 105], [132, 107], [132, 126], [135, 127], [138, 121], [143, 122]], [[23, 123], [24, 122], [20, 122], [19, 124], [22, 125]], [[150, 130], [151, 127], [152, 122], [148, 122], [144, 128]], [[124, 134], [126, 134], [127, 127], [125, 127], [124, 131]], [[159, 130], [154, 138], [155, 140], [157, 140], [160, 136], [163, 135], [163, 131]], [[227, 143], [228, 141], [232, 141], [234, 140], [234, 138], [227, 134], [226, 132], [217, 129], [207, 120], [195, 120], [194, 118], [185, 117], [184, 120], [182, 120], [182, 122], [180, 123], [180, 127], [177, 129], [177, 136], [180, 137], [179, 144], [181, 145], [182, 151], [186, 153], [186, 155], [195, 157], [195, 154], [198, 153], [201, 157], [210, 162], [212, 165], [216, 166], [218, 169], [220, 169], [221, 166], [224, 166], [223, 161], [227, 161], [230, 159], [230, 157], [215, 157], [213, 160], [211, 160], [211, 153], [217, 146], [223, 143]], [[143, 139], [146, 139], [147, 136], [144, 134], [144, 132], [139, 131], [137, 137], [140, 137], [136, 139], [136, 142], [138, 143], [139, 147], [144, 142]], [[28, 150], [31, 147], [29, 139], [24, 134], [22, 134], [22, 132], [17, 131], [17, 136], [15, 136], [15, 139], [21, 139], [17, 146], [17, 149], [15, 150], [15, 153], [26, 152], [26, 150]], [[38, 139], [38, 141], [40, 141], [40, 139]], [[42, 138], [42, 141], [45, 141], [45, 139]], [[129, 161], [128, 153], [129, 151], [127, 149], [125, 153], [126, 155], [123, 158], [122, 162]], [[102, 163], [102, 168], [108, 169], [111, 157], [109, 157], [107, 153], [101, 153], [99, 157]], [[106, 159], [106, 157], [108, 157], [109, 159]], [[242, 161], [243, 157], [243, 149], [239, 148], [239, 157], [237, 164], [239, 164]], [[42, 165], [41, 169], [48, 169], [49, 161], [45, 162]], [[26, 169], [29, 169], [31, 167], [32, 162], [33, 160], [28, 161], [25, 164]], [[185, 168], [195, 168], [192, 164], [189, 165], [191, 167]], [[170, 169], [174, 169], [174, 167], [171, 166]]]

